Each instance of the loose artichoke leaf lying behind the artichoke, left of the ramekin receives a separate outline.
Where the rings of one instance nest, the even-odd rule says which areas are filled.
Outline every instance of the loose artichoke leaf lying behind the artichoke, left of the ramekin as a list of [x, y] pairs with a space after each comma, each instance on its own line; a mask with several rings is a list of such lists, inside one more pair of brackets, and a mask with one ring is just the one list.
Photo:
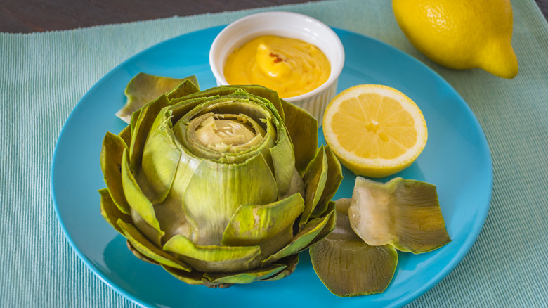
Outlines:
[[129, 84], [127, 84], [125, 90], [127, 102], [122, 109], [118, 110], [116, 115], [129, 124], [133, 112], [143, 108], [144, 105], [158, 96], [173, 90], [178, 84], [181, 84], [185, 80], [190, 80], [190, 82], [193, 82], [196, 86], [198, 84], [195, 76], [174, 79], [148, 75], [143, 72], [138, 73], [131, 79]]

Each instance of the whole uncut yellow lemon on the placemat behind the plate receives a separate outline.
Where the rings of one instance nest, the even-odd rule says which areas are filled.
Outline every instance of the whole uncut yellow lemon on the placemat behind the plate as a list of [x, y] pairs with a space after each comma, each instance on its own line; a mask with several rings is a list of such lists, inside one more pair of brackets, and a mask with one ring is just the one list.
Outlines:
[[509, 0], [393, 0], [392, 8], [407, 39], [436, 63], [518, 74]]

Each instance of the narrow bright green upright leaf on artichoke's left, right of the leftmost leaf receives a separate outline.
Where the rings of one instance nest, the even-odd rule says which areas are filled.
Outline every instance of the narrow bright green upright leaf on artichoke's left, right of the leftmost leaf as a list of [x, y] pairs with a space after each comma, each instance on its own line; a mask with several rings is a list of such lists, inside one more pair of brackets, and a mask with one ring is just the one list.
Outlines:
[[154, 207], [143, 191], [141, 191], [135, 177], [133, 177], [129, 168], [127, 156], [127, 150], [124, 149], [122, 155], [122, 186], [124, 187], [126, 200], [128, 200], [131, 208], [135, 210], [145, 222], [163, 235], [163, 232], [159, 227], [159, 222], [156, 219]]

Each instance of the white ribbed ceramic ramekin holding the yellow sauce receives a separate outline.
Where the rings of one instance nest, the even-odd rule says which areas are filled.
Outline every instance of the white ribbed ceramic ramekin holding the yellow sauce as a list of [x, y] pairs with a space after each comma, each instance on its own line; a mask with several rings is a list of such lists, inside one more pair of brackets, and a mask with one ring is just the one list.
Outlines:
[[327, 104], [337, 94], [337, 81], [344, 66], [344, 48], [341, 39], [327, 25], [307, 15], [292, 12], [263, 12], [240, 18], [226, 26], [215, 38], [209, 50], [209, 65], [217, 85], [226, 85], [223, 68], [226, 58], [237, 47], [261, 35], [278, 35], [301, 39], [318, 46], [330, 61], [331, 73], [327, 82], [312, 91], [284, 98], [289, 103], [307, 110], [322, 125]]

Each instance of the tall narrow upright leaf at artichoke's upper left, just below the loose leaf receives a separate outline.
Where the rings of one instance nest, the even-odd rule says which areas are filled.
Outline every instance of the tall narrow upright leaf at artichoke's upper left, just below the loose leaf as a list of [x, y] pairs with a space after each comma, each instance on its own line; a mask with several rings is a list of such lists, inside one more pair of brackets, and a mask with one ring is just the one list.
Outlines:
[[163, 116], [159, 112], [167, 105], [169, 105], [167, 96], [159, 96], [155, 101], [148, 103], [139, 110], [134, 126], [133, 119], [131, 120], [131, 146], [129, 147], [131, 170], [137, 170], [140, 167], [143, 158], [143, 147], [150, 132], [150, 127], [154, 124], [156, 117]]

